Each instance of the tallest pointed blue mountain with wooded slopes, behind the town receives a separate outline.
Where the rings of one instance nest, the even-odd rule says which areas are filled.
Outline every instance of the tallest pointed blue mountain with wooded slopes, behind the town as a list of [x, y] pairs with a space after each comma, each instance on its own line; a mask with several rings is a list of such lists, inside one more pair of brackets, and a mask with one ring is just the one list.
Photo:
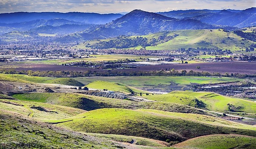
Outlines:
[[120, 35], [145, 35], [159, 31], [216, 28], [235, 29], [228, 26], [207, 24], [195, 19], [176, 19], [153, 12], [133, 10], [108, 24], [76, 34], [83, 37], [83, 40], [91, 40], [117, 37]]

